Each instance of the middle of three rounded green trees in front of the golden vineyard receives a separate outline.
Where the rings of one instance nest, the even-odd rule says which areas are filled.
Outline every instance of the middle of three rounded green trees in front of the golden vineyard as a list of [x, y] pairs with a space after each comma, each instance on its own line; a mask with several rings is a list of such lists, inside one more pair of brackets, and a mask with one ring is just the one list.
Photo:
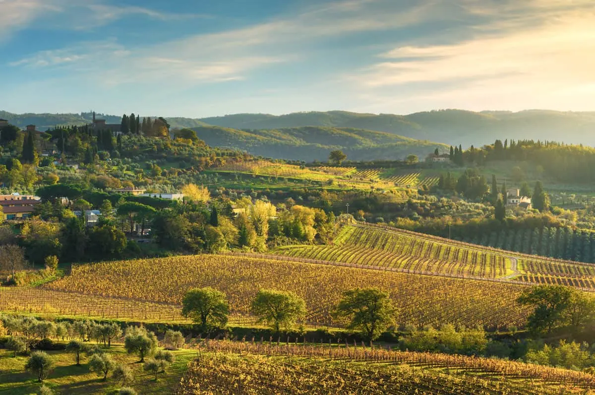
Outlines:
[[252, 301], [252, 313], [278, 333], [281, 326], [290, 328], [306, 315], [306, 302], [293, 293], [260, 290]]

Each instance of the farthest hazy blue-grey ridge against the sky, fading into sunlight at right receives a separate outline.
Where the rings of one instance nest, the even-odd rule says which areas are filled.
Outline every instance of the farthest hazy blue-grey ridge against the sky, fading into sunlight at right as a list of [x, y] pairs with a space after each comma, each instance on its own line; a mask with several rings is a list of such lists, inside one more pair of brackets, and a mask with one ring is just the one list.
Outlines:
[[540, 139], [595, 146], [595, 112], [527, 110], [482, 111], [439, 110], [406, 116], [362, 114], [347, 111], [271, 114], [233, 114], [201, 119], [210, 125], [235, 129], [279, 127], [355, 127], [394, 133], [414, 139], [464, 147], [491, 144], [495, 139]]

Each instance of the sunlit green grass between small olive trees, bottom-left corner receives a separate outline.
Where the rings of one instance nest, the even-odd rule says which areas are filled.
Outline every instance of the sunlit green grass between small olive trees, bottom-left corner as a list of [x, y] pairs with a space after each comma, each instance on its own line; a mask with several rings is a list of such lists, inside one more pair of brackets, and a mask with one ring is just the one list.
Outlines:
[[[133, 369], [134, 382], [130, 385], [139, 394], [165, 394], [171, 393], [176, 387], [180, 376], [186, 371], [187, 363], [196, 356], [194, 350], [179, 350], [176, 362], [170, 366], [166, 374], [160, 374], [159, 381], [147, 374], [142, 369], [142, 364], [137, 363], [137, 356], [127, 354], [123, 346], [112, 344], [109, 353], [117, 363], [126, 363]], [[55, 368], [45, 380], [56, 394], [112, 394], [120, 388], [117, 382], [108, 375], [108, 380], [103, 381], [95, 373], [90, 372], [86, 365], [87, 357], [81, 357], [81, 366], [74, 364], [73, 354], [63, 351], [48, 352], [55, 363]], [[12, 357], [10, 352], [0, 350], [0, 394], [25, 395], [36, 393], [39, 383], [32, 374], [24, 371], [27, 357]]]

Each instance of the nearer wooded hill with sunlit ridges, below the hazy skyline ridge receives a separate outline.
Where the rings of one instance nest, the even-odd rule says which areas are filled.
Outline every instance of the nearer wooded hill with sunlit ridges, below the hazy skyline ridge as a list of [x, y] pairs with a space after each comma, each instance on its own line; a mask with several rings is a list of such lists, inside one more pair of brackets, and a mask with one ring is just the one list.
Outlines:
[[253, 155], [293, 160], [327, 160], [331, 150], [342, 150], [348, 160], [396, 160], [409, 154], [422, 160], [445, 144], [419, 141], [393, 133], [349, 127], [302, 126], [279, 129], [195, 127], [196, 135], [212, 147], [229, 147]]

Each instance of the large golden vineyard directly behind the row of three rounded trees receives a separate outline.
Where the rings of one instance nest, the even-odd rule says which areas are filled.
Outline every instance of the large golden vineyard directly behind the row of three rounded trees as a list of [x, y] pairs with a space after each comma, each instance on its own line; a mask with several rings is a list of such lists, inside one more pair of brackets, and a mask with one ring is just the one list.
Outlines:
[[515, 303], [522, 285], [216, 255], [74, 266], [42, 288], [3, 290], [0, 310], [177, 320], [183, 294], [205, 286], [226, 293], [239, 316], [248, 315], [260, 288], [292, 291], [306, 301], [306, 321], [320, 325], [345, 324], [331, 312], [343, 291], [357, 287], [389, 291], [402, 325], [522, 326], [529, 311]]

